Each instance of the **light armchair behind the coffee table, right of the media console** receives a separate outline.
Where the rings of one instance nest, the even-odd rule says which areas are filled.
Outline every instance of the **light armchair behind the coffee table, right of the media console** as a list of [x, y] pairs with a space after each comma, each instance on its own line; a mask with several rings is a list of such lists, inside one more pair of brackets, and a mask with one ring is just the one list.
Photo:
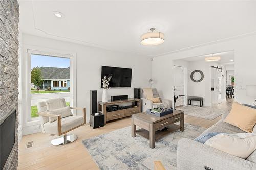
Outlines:
[[[157, 92], [157, 89], [152, 88], [152, 92], [153, 92], [153, 97], [157, 98], [159, 97], [159, 94]], [[154, 107], [157, 107], [158, 105], [163, 105], [167, 108], [172, 108], [172, 104], [173, 101], [169, 100], [169, 99], [165, 99], [165, 98], [160, 98], [161, 103], [153, 103], [151, 100], [148, 100], [146, 95], [144, 94], [144, 89], [142, 89], [142, 98], [141, 98], [141, 102], [142, 102], [142, 110], [143, 112], [145, 112], [148, 109], [153, 109]]]

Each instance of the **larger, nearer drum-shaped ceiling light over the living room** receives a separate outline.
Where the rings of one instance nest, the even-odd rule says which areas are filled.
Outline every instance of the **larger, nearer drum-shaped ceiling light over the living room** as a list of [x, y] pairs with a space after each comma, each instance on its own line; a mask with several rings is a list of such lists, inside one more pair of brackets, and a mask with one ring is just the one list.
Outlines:
[[141, 43], [143, 45], [159, 45], [164, 42], [164, 34], [161, 32], [154, 32], [155, 28], [151, 28], [150, 31], [141, 36]]

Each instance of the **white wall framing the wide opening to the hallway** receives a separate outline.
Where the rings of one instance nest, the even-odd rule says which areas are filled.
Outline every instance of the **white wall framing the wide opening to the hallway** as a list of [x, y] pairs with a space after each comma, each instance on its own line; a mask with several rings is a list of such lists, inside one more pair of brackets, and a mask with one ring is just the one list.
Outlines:
[[[173, 67], [170, 66], [173, 65], [173, 60], [234, 50], [237, 87], [235, 100], [239, 103], [252, 104], [254, 100], [246, 96], [245, 85], [256, 85], [255, 48], [256, 35], [253, 34], [229, 41], [191, 48], [173, 54], [158, 56], [155, 57], [152, 62], [152, 79], [163, 82], [163, 84], [158, 84], [157, 86], [162, 88], [161, 92], [163, 95], [167, 95], [170, 99], [173, 99], [172, 94], [170, 94], [170, 91], [173, 91]], [[165, 75], [165, 79], [168, 79], [168, 83], [164, 83], [163, 80], [160, 80], [163, 78], [163, 76], [159, 76], [161, 74]]]

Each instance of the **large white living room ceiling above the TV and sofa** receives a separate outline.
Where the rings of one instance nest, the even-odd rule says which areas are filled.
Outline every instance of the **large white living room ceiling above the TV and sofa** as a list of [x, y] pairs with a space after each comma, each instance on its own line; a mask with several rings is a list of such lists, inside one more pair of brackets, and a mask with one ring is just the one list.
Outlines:
[[[20, 0], [19, 6], [24, 33], [146, 56], [256, 31], [255, 1]], [[165, 34], [163, 44], [140, 43], [151, 27]]]

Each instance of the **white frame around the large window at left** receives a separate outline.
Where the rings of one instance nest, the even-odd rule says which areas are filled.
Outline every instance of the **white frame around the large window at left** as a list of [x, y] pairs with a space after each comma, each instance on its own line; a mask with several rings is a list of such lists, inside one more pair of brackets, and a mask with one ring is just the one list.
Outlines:
[[[70, 106], [76, 107], [76, 53], [75, 52], [68, 52], [68, 51], [60, 51], [60, 50], [54, 50], [50, 48], [44, 48], [44, 47], [38, 47], [38, 46], [31, 46], [31, 45], [24, 45], [23, 47], [24, 55], [24, 61], [22, 63], [22, 67], [24, 68], [23, 75], [23, 127], [26, 131], [24, 134], [35, 133], [40, 131], [39, 129], [34, 128], [32, 130], [29, 129], [30, 126], [40, 125], [39, 119], [31, 119], [29, 116], [29, 113], [31, 112], [31, 94], [30, 94], [30, 82], [31, 82], [31, 54], [39, 54], [39, 55], [47, 55], [47, 56], [53, 56], [53, 57], [63, 57], [63, 58], [70, 58]], [[26, 88], [27, 87], [27, 88]], [[76, 111], [73, 112], [74, 115], [76, 115]], [[27, 130], [26, 130], [27, 129]], [[29, 132], [28, 132], [29, 131]]]

